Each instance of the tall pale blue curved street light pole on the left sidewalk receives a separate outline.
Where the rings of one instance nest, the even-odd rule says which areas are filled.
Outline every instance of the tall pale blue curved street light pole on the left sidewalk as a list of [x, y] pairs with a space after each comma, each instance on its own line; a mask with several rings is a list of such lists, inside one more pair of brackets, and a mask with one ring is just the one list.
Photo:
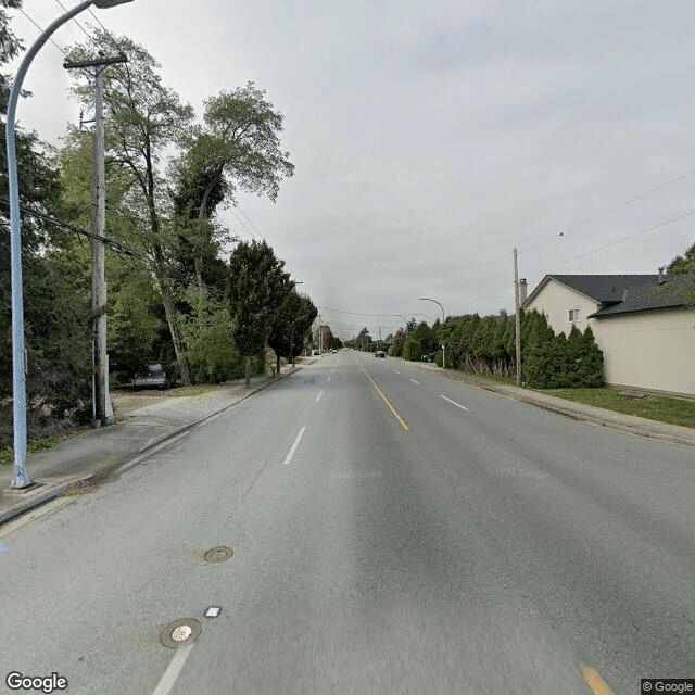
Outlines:
[[5, 125], [8, 149], [8, 186], [10, 192], [10, 265], [12, 288], [12, 414], [14, 434], [14, 478], [12, 488], [27, 488], [31, 479], [26, 473], [26, 364], [24, 353], [24, 302], [22, 300], [22, 227], [20, 224], [20, 184], [17, 180], [17, 151], [15, 121], [22, 84], [31, 61], [51, 35], [63, 24], [90, 5], [112, 8], [132, 0], [85, 0], [55, 20], [31, 45], [17, 71], [10, 100]]

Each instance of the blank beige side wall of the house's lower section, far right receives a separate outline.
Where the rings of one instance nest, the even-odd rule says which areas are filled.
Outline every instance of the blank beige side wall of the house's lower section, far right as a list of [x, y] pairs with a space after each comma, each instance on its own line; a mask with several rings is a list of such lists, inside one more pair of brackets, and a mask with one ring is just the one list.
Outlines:
[[695, 312], [685, 307], [592, 318], [607, 383], [695, 395]]

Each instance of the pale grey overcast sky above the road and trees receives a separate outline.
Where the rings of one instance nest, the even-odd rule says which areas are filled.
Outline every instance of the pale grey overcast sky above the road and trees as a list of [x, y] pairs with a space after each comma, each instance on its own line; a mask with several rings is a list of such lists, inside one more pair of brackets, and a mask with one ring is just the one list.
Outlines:
[[[42, 27], [63, 12], [24, 10]], [[513, 311], [515, 247], [530, 292], [546, 273], [656, 273], [695, 241], [693, 214], [573, 260], [695, 211], [687, 0], [135, 0], [94, 13], [199, 114], [223, 88], [267, 91], [296, 170], [275, 204], [240, 207], [317, 306], [355, 313], [321, 311], [343, 339], [404, 323], [359, 314], [431, 324], [439, 307], [420, 296], [447, 315]], [[18, 12], [14, 27], [38, 36]], [[72, 22], [54, 38], [86, 37]], [[62, 59], [42, 49], [18, 109], [54, 143], [79, 117]]]

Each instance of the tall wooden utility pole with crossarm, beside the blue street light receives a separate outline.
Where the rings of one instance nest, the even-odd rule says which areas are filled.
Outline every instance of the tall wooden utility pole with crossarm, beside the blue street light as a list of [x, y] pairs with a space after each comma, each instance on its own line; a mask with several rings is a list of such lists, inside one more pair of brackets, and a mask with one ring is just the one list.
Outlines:
[[[65, 61], [65, 70], [96, 68], [94, 93], [94, 137], [92, 140], [92, 184], [91, 184], [91, 311], [93, 336], [93, 419], [92, 427], [113, 422], [113, 408], [109, 396], [109, 355], [106, 353], [106, 275], [104, 242], [106, 229], [106, 184], [104, 169], [104, 81], [103, 73], [108, 65], [125, 63], [127, 58], [121, 53], [114, 58], [100, 58], [93, 61], [73, 63]], [[80, 116], [80, 125], [84, 123]]]

